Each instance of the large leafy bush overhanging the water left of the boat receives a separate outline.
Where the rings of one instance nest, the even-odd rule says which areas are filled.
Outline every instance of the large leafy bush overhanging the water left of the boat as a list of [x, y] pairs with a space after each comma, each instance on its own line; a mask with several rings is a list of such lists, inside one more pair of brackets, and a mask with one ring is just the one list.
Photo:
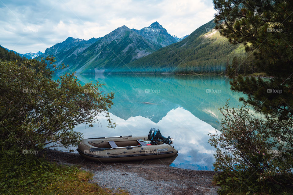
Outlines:
[[54, 71], [45, 62], [32, 59], [17, 65], [0, 60], [0, 147], [76, 146], [82, 136], [74, 127], [92, 126], [99, 115], [115, 127], [107, 112], [113, 93], [103, 94], [99, 82], [81, 85], [74, 73], [52, 80]]

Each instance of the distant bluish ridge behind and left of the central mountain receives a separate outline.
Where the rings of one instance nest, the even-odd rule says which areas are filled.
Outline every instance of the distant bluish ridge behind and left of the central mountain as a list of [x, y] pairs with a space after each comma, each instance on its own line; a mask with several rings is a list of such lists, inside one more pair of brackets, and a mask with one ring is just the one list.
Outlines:
[[68, 37], [65, 41], [57, 43], [50, 48], [45, 50], [45, 53], [40, 55], [40, 57], [47, 57], [52, 55], [56, 59], [56, 64], [61, 64], [63, 61], [67, 61], [67, 58], [72, 58], [72, 56], [77, 56], [82, 53], [91, 44], [98, 41], [100, 38], [91, 38], [89, 40], [75, 39], [73, 37]]

